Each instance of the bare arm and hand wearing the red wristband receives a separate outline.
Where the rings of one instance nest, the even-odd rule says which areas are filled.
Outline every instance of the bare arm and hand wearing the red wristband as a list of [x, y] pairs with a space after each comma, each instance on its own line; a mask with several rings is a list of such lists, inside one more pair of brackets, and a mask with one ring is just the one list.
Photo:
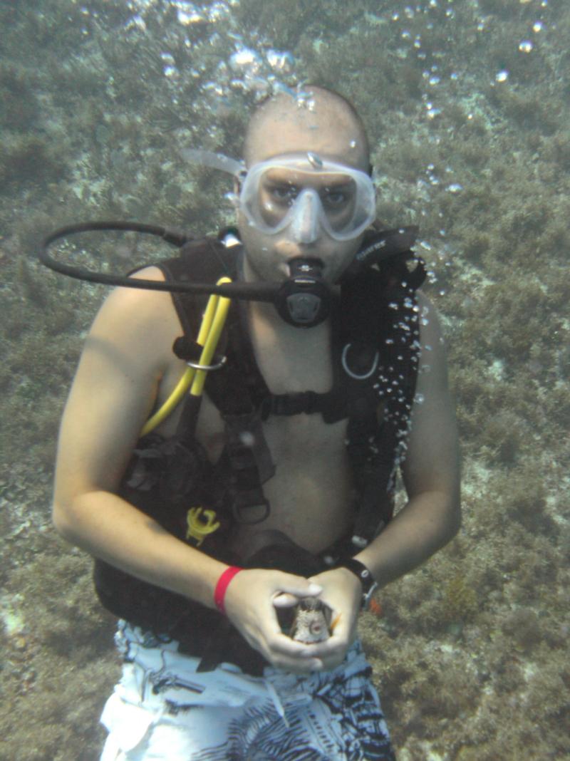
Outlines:
[[[156, 270], [150, 276], [161, 277]], [[119, 288], [103, 304], [62, 419], [53, 520], [65, 539], [91, 555], [214, 607], [215, 585], [227, 566], [116, 495], [161, 377], [176, 361], [171, 347], [180, 331], [166, 293]], [[272, 602], [280, 591], [315, 594], [304, 578], [244, 571], [228, 587], [226, 610], [269, 661], [310, 670], [312, 651], [279, 629]]]

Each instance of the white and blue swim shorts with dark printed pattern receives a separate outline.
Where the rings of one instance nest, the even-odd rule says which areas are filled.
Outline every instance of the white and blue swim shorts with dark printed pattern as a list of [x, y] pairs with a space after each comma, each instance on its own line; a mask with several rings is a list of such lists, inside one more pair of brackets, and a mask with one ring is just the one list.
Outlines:
[[119, 622], [123, 677], [103, 709], [100, 761], [394, 761], [371, 667], [355, 642], [332, 671], [298, 676], [199, 658]]

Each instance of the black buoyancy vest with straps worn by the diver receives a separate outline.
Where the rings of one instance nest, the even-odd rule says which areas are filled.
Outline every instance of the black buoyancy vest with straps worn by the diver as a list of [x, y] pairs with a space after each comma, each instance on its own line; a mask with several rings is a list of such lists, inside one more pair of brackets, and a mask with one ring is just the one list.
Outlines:
[[[205, 537], [200, 549], [231, 565], [310, 576], [342, 556], [354, 555], [373, 539], [392, 514], [394, 478], [405, 453], [416, 388], [416, 289], [425, 270], [416, 260], [416, 269], [409, 271], [413, 237], [406, 229], [375, 233], [372, 240], [365, 239], [361, 252], [366, 255], [374, 243], [379, 245], [380, 263], [351, 267], [343, 276], [331, 317], [329, 393], [272, 395], [256, 365], [244, 302], [234, 300], [218, 346], [227, 361], [223, 369], [209, 373], [205, 384], [225, 426], [218, 463], [210, 463], [196, 441], [196, 403], [186, 401], [173, 438], [164, 440], [151, 433], [139, 441], [119, 495], [194, 546], [196, 541], [187, 536], [189, 507], [214, 509], [220, 527]], [[180, 256], [158, 266], [167, 279], [216, 282], [222, 275], [238, 277], [241, 255], [240, 246], [225, 247], [219, 239], [206, 238], [191, 241]], [[183, 327], [174, 352], [197, 360], [199, 347], [194, 341], [207, 297], [172, 294], [172, 298]], [[266, 544], [245, 553], [232, 549], [232, 528], [240, 522], [259, 522], [262, 528], [270, 510], [263, 483], [272, 476], [274, 465], [263, 437], [263, 420], [296, 414], [320, 414], [325, 422], [348, 419], [346, 446], [358, 495], [352, 532], [320, 556], [310, 555], [279, 532], [260, 533], [267, 534]], [[177, 639], [181, 649], [202, 658], [202, 667], [224, 660], [248, 673], [263, 673], [263, 658], [218, 611], [100, 560], [95, 561], [94, 581], [104, 607], [156, 635]]]

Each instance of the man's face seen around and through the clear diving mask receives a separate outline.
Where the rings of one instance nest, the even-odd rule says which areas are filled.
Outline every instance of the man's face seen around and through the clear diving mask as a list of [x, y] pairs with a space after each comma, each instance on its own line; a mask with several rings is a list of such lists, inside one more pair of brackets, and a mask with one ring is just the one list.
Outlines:
[[[294, 155], [315, 154], [317, 158], [342, 164], [352, 169], [368, 170], [368, 155], [362, 145], [358, 126], [350, 116], [317, 99], [314, 111], [299, 108], [291, 98], [282, 98], [269, 113], [263, 115], [253, 131], [253, 150], [248, 157], [248, 169], [263, 161], [275, 159], [288, 161]], [[285, 182], [280, 182], [285, 179]], [[338, 181], [337, 178], [336, 181]], [[326, 183], [327, 188], [331, 183]], [[314, 186], [314, 187], [313, 187]], [[279, 215], [279, 205], [291, 204], [304, 190], [315, 190], [323, 198], [327, 218], [334, 218], [333, 205], [342, 200], [342, 195], [331, 189], [330, 197], [323, 196], [323, 182], [310, 181], [309, 173], [295, 173], [291, 170], [272, 170], [259, 183], [260, 207], [265, 209], [268, 224], [272, 214]], [[337, 188], [338, 190], [338, 188]], [[271, 198], [268, 203], [268, 194]], [[288, 197], [291, 196], [291, 197]], [[312, 198], [311, 198], [312, 196]], [[310, 203], [316, 198], [313, 193], [305, 193], [304, 206], [307, 220]], [[338, 213], [342, 220], [342, 215]], [[238, 212], [238, 226], [246, 250], [246, 276], [248, 279], [282, 280], [288, 277], [288, 261], [295, 257], [313, 257], [322, 261], [323, 276], [328, 282], [335, 282], [349, 266], [361, 244], [362, 236], [352, 240], [336, 240], [320, 224], [314, 224], [307, 234], [299, 230], [304, 224], [304, 215], [296, 217], [298, 224], [289, 224], [282, 231], [261, 231], [251, 224], [243, 212]]]

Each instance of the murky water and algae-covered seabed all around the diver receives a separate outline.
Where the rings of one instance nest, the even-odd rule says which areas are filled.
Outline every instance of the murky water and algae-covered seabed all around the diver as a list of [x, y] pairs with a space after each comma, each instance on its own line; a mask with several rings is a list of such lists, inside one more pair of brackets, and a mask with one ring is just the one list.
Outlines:
[[[91, 218], [215, 231], [231, 177], [184, 150], [241, 158], [251, 107], [311, 109], [315, 82], [365, 119], [380, 217], [420, 226], [462, 436], [459, 537], [362, 619], [398, 757], [570, 758], [565, 4], [43, 0], [0, 25], [0, 757], [96, 759], [117, 673], [90, 562], [49, 521], [105, 288], [41, 269], [38, 243]], [[75, 248], [113, 271], [167, 253]]]

